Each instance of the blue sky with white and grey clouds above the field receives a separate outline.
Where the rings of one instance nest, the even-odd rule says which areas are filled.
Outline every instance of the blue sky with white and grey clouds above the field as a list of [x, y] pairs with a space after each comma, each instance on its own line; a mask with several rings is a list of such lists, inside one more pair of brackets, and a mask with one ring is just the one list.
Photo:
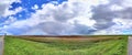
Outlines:
[[0, 33], [132, 34], [131, 0], [0, 0]]

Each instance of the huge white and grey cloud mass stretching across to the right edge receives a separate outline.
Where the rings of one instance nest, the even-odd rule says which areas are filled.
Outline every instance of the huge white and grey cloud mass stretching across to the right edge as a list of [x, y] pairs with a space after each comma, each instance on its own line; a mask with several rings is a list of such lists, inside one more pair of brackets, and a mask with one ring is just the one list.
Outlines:
[[54, 3], [43, 4], [41, 10], [34, 6], [32, 9], [36, 12], [31, 18], [15, 21], [4, 30], [12, 34], [41, 32], [68, 35], [123, 34], [132, 28], [130, 0], [69, 0], [58, 6]]

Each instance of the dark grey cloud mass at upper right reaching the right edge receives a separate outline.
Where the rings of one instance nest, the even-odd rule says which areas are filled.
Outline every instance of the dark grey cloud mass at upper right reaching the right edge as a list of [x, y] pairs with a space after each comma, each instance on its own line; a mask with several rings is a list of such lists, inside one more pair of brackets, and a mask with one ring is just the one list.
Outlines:
[[[92, 18], [97, 23], [94, 25], [98, 31], [110, 29], [116, 25], [114, 19], [131, 20], [132, 19], [132, 7], [124, 7], [125, 0], [109, 0], [108, 4], [99, 4], [92, 8]], [[122, 7], [122, 10], [111, 10], [110, 7], [118, 4]], [[125, 21], [123, 21], [125, 22]], [[125, 22], [129, 24], [128, 22]], [[130, 28], [132, 25], [129, 25]], [[125, 28], [125, 26], [124, 26]], [[114, 29], [111, 29], [114, 30]], [[120, 31], [121, 32], [121, 31]]]

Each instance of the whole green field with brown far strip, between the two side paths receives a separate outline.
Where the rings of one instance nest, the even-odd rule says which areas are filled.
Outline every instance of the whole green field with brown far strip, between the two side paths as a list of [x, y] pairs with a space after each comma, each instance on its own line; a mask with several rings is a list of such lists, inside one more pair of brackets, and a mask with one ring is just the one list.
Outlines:
[[4, 55], [128, 55], [127, 35], [6, 36]]

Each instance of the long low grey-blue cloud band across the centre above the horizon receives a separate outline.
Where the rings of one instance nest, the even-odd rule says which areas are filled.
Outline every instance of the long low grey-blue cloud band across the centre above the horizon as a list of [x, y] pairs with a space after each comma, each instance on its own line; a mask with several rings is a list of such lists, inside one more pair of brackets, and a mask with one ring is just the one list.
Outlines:
[[40, 23], [35, 29], [40, 29], [50, 35], [62, 35], [62, 34], [91, 34], [96, 30], [75, 23], [74, 25], [68, 25], [66, 23], [58, 22], [44, 22]]

